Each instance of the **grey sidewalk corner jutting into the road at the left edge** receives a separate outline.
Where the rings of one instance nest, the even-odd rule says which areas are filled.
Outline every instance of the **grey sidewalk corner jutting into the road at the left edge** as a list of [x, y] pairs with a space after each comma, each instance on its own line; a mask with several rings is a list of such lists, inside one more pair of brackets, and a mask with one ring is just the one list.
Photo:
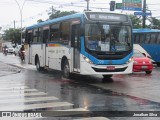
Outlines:
[[12, 65], [8, 65], [3, 62], [0, 63], [0, 77], [10, 75], [10, 74], [19, 73], [20, 71], [21, 71], [21, 69], [19, 69], [18, 67], [14, 67]]

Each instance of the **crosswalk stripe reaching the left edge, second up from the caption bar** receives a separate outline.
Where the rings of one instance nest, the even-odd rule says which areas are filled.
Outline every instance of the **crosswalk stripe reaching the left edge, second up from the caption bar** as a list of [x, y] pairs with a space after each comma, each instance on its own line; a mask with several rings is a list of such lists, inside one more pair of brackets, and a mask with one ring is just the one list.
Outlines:
[[[9, 100], [0, 100], [0, 105], [4, 103], [28, 103], [28, 102], [41, 102], [41, 101], [51, 101], [51, 100], [58, 100], [58, 98], [54, 96], [49, 97], [32, 97], [32, 98], [19, 98], [19, 99], [9, 99]], [[6, 106], [6, 105], [5, 105]]]

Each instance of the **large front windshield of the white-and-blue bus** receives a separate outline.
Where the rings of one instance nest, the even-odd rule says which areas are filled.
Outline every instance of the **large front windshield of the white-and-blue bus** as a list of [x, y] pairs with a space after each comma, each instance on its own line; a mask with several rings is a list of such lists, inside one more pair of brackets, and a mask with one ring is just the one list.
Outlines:
[[85, 25], [85, 46], [98, 52], [122, 52], [132, 49], [131, 26], [94, 23]]

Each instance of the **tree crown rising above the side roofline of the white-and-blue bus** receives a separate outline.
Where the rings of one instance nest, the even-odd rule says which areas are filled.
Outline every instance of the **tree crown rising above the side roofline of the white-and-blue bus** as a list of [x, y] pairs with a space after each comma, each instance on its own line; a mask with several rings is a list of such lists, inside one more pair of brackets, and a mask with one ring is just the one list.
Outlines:
[[54, 19], [54, 18], [66, 16], [66, 15], [71, 15], [71, 14], [74, 14], [74, 13], [76, 13], [76, 12], [75, 11], [63, 11], [63, 12], [61, 12], [60, 10], [52, 9], [52, 13], [48, 13], [48, 15], [49, 15], [49, 19]]

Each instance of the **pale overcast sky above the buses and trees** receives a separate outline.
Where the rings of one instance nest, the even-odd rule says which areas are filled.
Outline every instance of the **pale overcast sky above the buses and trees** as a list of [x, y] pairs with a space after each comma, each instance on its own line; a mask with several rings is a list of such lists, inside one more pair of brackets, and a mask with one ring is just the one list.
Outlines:
[[[58, 1], [58, 2], [57, 2]], [[65, 1], [65, 2], [64, 2]], [[115, 0], [117, 3], [122, 0]], [[152, 16], [160, 18], [160, 1], [146, 0]], [[81, 12], [86, 9], [85, 0], [17, 0], [22, 10], [23, 27], [35, 24], [38, 19], [46, 20], [51, 7], [56, 10], [77, 11]], [[93, 11], [109, 11], [110, 0], [90, 0], [90, 9]], [[0, 27], [3, 29], [11, 27], [20, 27], [20, 9], [16, 0], [0, 0]], [[102, 9], [96, 9], [102, 8]], [[104, 9], [106, 8], [106, 9]], [[128, 11], [116, 10], [115, 12], [126, 13]], [[133, 13], [133, 12], [132, 12]], [[15, 21], [15, 24], [14, 24]]]

